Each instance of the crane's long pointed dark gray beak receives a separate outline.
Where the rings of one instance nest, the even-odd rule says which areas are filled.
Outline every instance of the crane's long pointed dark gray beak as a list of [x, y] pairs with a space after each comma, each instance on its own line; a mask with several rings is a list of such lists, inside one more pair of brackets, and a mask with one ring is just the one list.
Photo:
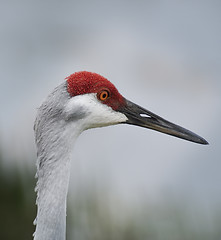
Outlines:
[[153, 129], [191, 142], [208, 144], [208, 142], [199, 135], [174, 123], [171, 123], [162, 117], [138, 106], [137, 104], [128, 101], [127, 99], [125, 99], [125, 101], [125, 106], [118, 110], [119, 112], [125, 114], [128, 118], [128, 120], [124, 123]]

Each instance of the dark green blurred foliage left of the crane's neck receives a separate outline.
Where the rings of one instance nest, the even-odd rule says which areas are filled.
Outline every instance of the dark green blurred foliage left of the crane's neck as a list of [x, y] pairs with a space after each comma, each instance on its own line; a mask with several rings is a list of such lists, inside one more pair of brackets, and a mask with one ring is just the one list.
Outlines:
[[32, 239], [35, 217], [34, 174], [3, 169], [0, 157], [0, 239]]

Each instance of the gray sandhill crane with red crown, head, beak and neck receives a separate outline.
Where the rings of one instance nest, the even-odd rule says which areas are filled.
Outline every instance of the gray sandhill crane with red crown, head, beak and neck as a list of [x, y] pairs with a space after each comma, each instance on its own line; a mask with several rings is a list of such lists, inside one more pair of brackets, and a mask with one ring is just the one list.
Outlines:
[[73, 144], [86, 129], [127, 123], [200, 144], [205, 139], [128, 101], [106, 78], [81, 71], [66, 78], [38, 109], [35, 240], [64, 240]]

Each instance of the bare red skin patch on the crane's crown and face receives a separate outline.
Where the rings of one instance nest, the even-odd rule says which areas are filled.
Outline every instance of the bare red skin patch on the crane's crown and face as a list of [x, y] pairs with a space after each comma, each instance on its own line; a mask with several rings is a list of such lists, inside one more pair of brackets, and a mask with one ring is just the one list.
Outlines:
[[76, 72], [67, 77], [66, 80], [67, 90], [71, 97], [87, 93], [99, 93], [104, 89], [108, 89], [110, 96], [105, 101], [101, 101], [102, 103], [108, 105], [113, 110], [117, 110], [125, 105], [125, 99], [116, 87], [97, 73]]

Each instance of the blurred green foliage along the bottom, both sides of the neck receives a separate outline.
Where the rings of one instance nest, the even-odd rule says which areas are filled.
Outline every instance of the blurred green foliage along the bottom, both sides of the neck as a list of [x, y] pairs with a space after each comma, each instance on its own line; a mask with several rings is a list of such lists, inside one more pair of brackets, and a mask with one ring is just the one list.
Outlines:
[[[5, 169], [0, 156], [0, 239], [32, 239], [36, 215], [34, 171]], [[25, 166], [23, 167], [24, 170]], [[86, 187], [68, 198], [67, 239], [220, 240], [221, 207], [206, 219], [182, 203], [163, 201], [127, 209], [104, 191]]]

